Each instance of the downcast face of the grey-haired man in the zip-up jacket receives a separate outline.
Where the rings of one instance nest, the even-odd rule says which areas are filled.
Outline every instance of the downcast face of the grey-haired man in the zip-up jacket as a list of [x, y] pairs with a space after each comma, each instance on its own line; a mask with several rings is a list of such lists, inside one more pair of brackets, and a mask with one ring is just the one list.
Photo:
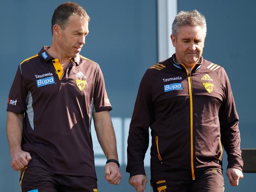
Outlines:
[[181, 26], [180, 33], [175, 38], [171, 35], [175, 47], [176, 62], [192, 67], [200, 59], [205, 34], [200, 26]]

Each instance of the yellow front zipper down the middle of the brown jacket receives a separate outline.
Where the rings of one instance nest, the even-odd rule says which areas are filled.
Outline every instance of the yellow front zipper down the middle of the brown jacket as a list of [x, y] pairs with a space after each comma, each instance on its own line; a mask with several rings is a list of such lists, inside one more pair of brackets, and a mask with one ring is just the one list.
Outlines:
[[195, 170], [194, 170], [194, 150], [193, 150], [193, 99], [192, 99], [192, 79], [191, 79], [191, 71], [195, 67], [190, 69], [190, 72], [188, 72], [186, 66], [184, 64], [181, 64], [187, 72], [187, 81], [188, 81], [188, 88], [189, 88], [189, 102], [190, 102], [190, 153], [191, 153], [191, 173], [192, 173], [192, 179], [195, 180]]

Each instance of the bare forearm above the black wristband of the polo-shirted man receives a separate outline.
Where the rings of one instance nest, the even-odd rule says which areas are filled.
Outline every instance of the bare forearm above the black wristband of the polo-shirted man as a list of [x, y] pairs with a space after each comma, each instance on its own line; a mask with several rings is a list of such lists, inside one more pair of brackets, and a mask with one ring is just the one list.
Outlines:
[[118, 161], [115, 132], [109, 112], [93, 113], [93, 119], [97, 138], [106, 158]]

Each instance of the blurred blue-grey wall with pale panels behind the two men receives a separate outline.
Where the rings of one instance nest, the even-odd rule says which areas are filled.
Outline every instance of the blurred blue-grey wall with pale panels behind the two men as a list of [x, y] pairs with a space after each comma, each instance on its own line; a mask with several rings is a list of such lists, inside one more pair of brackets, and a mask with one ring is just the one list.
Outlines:
[[[6, 138], [6, 107], [17, 66], [37, 54], [43, 45], [51, 45], [51, 18], [61, 0], [3, 0], [0, 6], [0, 191], [20, 191], [19, 172], [10, 166]], [[90, 34], [81, 54], [96, 61], [104, 74], [113, 110], [111, 116], [117, 135], [122, 171], [120, 185], [104, 180], [106, 159], [93, 133], [99, 192], [135, 191], [129, 185], [126, 168], [126, 138], [139, 82], [145, 70], [174, 53], [169, 40], [171, 24], [177, 12], [197, 9], [207, 21], [203, 57], [225, 68], [236, 100], [241, 131], [241, 148], [256, 148], [256, 1], [253, 0], [74, 0], [83, 6], [91, 21]], [[149, 154], [145, 169], [150, 180]], [[244, 174], [238, 187], [226, 177], [225, 191], [255, 191], [256, 174]], [[146, 188], [151, 192], [149, 183]]]

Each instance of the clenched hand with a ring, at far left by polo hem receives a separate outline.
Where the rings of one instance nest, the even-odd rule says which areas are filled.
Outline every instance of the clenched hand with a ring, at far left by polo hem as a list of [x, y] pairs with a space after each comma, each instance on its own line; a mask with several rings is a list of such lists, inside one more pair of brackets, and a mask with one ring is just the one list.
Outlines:
[[22, 150], [15, 151], [11, 153], [11, 167], [15, 171], [22, 170], [31, 159], [30, 153]]

